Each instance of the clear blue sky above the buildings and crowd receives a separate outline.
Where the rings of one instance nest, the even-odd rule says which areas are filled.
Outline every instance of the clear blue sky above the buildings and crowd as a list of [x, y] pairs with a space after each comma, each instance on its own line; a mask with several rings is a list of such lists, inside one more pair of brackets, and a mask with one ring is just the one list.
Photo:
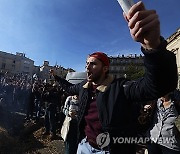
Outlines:
[[[137, 0], [134, 0], [137, 2]], [[180, 28], [180, 0], [142, 0], [165, 38]], [[22, 52], [42, 66], [84, 71], [87, 55], [140, 54], [117, 0], [0, 0], [0, 51]]]

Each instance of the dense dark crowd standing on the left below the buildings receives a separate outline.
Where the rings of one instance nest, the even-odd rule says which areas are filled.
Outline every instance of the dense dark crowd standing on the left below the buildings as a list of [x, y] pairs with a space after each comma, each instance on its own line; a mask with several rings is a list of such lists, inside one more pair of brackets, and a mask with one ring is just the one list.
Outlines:
[[1, 108], [25, 113], [26, 122], [39, 122], [44, 117], [44, 135], [51, 135], [51, 139], [56, 138], [58, 120], [60, 123], [63, 120], [61, 108], [67, 96], [53, 81], [46, 82], [24, 74], [2, 73], [0, 76]]

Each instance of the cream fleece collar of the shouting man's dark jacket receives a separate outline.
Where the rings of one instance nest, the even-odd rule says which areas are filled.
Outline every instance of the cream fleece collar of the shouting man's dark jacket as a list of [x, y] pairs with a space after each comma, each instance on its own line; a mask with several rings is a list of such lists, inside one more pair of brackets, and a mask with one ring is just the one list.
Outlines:
[[[99, 90], [100, 92], [105, 92], [108, 85], [110, 85], [113, 80], [114, 80], [114, 77], [112, 75], [108, 75], [107, 78], [102, 82], [102, 84], [99, 85], [96, 89]], [[92, 85], [92, 82], [86, 82], [83, 85], [83, 88], [89, 88], [91, 85]]]

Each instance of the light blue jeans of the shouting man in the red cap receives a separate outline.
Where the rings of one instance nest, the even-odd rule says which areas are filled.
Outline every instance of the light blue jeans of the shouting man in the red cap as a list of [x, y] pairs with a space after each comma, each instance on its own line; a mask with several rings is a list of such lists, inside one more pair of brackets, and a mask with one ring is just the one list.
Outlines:
[[93, 148], [86, 138], [78, 144], [77, 154], [110, 154], [109, 151], [98, 150]]

